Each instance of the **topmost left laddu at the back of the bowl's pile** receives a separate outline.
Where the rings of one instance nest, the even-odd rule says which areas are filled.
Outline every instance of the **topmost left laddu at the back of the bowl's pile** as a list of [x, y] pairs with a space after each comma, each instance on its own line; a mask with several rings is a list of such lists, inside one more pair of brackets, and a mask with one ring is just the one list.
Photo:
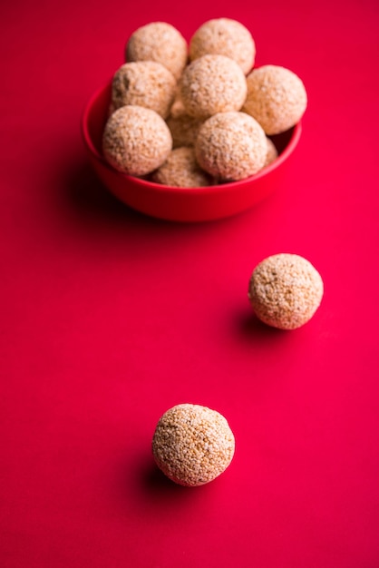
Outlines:
[[166, 22], [151, 22], [135, 30], [125, 48], [125, 59], [156, 61], [178, 80], [188, 62], [188, 44], [179, 30]]

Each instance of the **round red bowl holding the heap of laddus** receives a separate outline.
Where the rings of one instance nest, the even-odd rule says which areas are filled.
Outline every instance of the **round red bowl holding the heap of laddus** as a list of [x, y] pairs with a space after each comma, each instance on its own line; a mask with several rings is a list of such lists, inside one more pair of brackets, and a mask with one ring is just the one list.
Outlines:
[[116, 171], [102, 155], [111, 84], [94, 93], [82, 117], [82, 133], [92, 167], [105, 187], [131, 208], [152, 217], [175, 221], [217, 220], [246, 211], [279, 187], [287, 161], [301, 134], [301, 123], [272, 137], [279, 156], [262, 171], [241, 181], [201, 188], [177, 188], [141, 180]]

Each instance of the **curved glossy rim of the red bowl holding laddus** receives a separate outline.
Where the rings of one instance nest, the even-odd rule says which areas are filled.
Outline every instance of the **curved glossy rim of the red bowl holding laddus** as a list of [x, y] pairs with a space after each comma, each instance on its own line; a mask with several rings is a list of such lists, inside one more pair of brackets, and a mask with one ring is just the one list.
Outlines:
[[[244, 178], [243, 180], [238, 181], [226, 181], [225, 183], [219, 183], [215, 185], [207, 185], [207, 186], [199, 186], [199, 187], [177, 187], [173, 185], [165, 185], [163, 183], [158, 183], [156, 181], [144, 180], [143, 178], [138, 178], [136, 176], [131, 176], [127, 173], [123, 173], [122, 171], [118, 171], [112, 167], [112, 165], [107, 162], [102, 155], [102, 152], [99, 152], [96, 148], [95, 144], [92, 141], [92, 137], [89, 131], [89, 118], [90, 113], [92, 110], [93, 103], [99, 98], [99, 96], [110, 88], [112, 80], [108, 80], [106, 83], [103, 83], [101, 87], [98, 87], [90, 96], [87, 103], [84, 105], [83, 113], [82, 113], [82, 120], [81, 120], [81, 130], [83, 135], [83, 140], [89, 152], [91, 152], [92, 157], [102, 163], [102, 166], [113, 173], [118, 174], [121, 178], [125, 181], [131, 181], [133, 184], [141, 185], [141, 187], [147, 188], [151, 191], [156, 191], [157, 193], [219, 193], [227, 192], [227, 191], [234, 191], [238, 188], [244, 188], [248, 183], [258, 181], [261, 178], [266, 177], [271, 171], [277, 170], [277, 168], [283, 163], [287, 161], [287, 158], [294, 152], [296, 145], [300, 139], [300, 135], [302, 132], [302, 122], [296, 122], [296, 124], [292, 127], [292, 134], [287, 143], [285, 149], [277, 156], [274, 162], [269, 163], [267, 166], [259, 170], [257, 173], [248, 176], [248, 178]], [[290, 130], [290, 129], [288, 129]]]

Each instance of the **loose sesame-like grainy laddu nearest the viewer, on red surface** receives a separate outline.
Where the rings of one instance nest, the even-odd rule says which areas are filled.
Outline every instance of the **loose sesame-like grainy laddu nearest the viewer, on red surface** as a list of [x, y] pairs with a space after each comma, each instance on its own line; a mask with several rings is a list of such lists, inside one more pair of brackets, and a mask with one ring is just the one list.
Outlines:
[[160, 417], [152, 453], [160, 470], [180, 485], [204, 485], [222, 474], [235, 450], [228, 421], [207, 406], [173, 406]]

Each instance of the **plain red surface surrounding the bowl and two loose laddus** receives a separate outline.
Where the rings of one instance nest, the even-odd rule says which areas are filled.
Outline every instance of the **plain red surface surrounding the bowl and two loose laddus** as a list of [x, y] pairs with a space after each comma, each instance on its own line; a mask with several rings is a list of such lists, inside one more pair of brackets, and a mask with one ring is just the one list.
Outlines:
[[[144, 217], [92, 173], [83, 106], [139, 25], [219, 16], [306, 84], [291, 176], [228, 220]], [[379, 566], [378, 24], [375, 0], [2, 3], [2, 568]], [[283, 251], [325, 281], [294, 332], [247, 299]], [[180, 402], [237, 441], [195, 489], [151, 458]]]

